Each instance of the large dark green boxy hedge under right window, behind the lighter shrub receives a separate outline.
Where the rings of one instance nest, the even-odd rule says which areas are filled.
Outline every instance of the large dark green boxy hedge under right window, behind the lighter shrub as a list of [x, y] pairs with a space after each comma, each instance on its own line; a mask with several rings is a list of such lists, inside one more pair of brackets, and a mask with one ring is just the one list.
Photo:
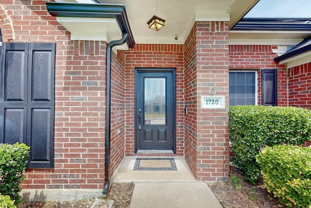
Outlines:
[[230, 106], [229, 118], [233, 162], [253, 184], [260, 176], [256, 155], [262, 148], [311, 140], [311, 111], [307, 109]]

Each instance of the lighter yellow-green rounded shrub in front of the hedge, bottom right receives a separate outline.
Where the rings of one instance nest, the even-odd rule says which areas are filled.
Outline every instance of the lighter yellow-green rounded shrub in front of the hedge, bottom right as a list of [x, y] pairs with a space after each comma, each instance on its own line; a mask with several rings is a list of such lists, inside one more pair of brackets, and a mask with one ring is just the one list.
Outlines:
[[257, 157], [268, 192], [288, 207], [311, 207], [311, 148], [266, 147]]

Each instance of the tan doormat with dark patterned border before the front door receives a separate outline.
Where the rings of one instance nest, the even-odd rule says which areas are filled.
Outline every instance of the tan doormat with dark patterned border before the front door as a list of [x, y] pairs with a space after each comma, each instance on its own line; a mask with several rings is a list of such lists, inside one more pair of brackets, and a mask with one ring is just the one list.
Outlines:
[[136, 158], [133, 170], [177, 170], [174, 158]]

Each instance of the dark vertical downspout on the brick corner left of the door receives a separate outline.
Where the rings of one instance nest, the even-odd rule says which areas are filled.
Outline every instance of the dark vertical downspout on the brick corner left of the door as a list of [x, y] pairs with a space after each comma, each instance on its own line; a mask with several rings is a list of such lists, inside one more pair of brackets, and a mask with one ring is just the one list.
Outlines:
[[105, 184], [103, 195], [107, 196], [110, 179], [110, 111], [111, 111], [111, 52], [117, 45], [123, 45], [126, 42], [128, 34], [124, 33], [120, 40], [112, 40], [107, 45], [106, 58], [106, 148], [105, 148]]

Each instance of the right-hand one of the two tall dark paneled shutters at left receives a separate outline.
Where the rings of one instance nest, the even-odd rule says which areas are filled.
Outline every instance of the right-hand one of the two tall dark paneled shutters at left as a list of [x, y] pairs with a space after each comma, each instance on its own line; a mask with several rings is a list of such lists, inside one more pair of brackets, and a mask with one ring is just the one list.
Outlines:
[[29, 168], [52, 168], [54, 124], [54, 43], [30, 43], [27, 145]]

